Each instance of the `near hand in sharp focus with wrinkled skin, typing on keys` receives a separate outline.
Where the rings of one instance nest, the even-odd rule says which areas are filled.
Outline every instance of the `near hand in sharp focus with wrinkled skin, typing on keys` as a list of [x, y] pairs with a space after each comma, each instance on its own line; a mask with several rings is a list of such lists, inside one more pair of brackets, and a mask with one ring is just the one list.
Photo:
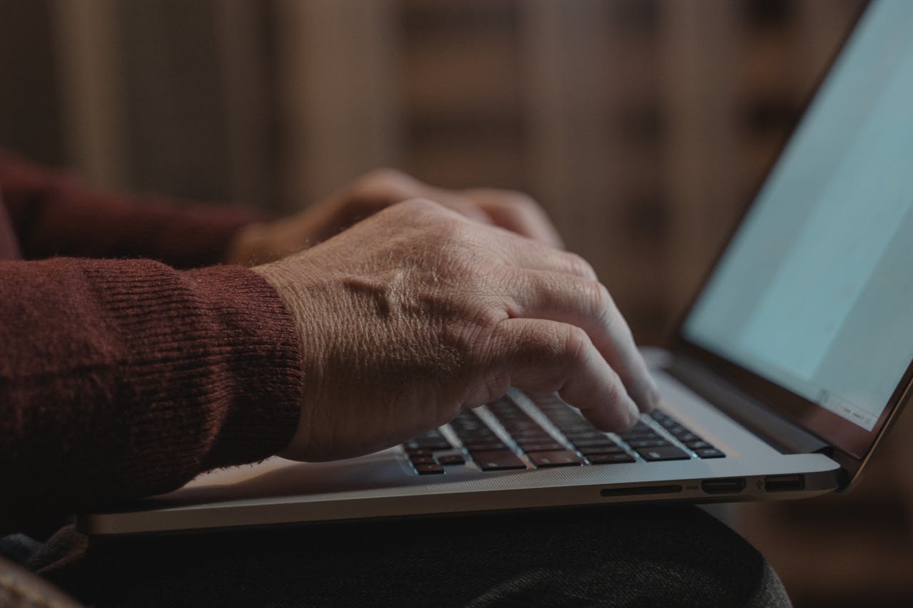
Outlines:
[[301, 339], [301, 417], [281, 456], [394, 446], [510, 386], [557, 391], [606, 431], [656, 403], [627, 324], [581, 257], [430, 201], [254, 270]]

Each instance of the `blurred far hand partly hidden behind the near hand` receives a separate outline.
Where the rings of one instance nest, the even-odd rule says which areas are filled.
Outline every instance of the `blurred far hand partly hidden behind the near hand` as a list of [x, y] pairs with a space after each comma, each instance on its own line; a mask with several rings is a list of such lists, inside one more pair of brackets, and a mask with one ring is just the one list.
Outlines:
[[299, 214], [243, 226], [228, 247], [226, 261], [253, 265], [289, 256], [409, 198], [431, 199], [483, 224], [561, 246], [548, 215], [526, 194], [495, 188], [447, 190], [393, 169], [378, 169]]

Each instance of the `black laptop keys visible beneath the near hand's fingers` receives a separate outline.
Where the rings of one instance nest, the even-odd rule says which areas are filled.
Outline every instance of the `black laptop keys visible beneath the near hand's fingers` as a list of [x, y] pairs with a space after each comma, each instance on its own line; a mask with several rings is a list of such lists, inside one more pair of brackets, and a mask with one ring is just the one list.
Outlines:
[[624, 433], [606, 434], [557, 395], [537, 397], [534, 403], [551, 430], [505, 397], [486, 408], [504, 433], [466, 410], [448, 425], [456, 443], [433, 429], [404, 443], [404, 454], [418, 475], [442, 475], [452, 466], [504, 471], [726, 456], [660, 410], [644, 414]]

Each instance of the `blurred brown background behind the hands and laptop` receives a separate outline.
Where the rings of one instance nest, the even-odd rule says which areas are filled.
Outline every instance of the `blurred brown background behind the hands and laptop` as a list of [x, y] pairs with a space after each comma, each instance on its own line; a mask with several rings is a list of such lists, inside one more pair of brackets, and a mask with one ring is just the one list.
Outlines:
[[[0, 144], [277, 214], [377, 166], [524, 190], [662, 345], [861, 5], [0, 0]], [[913, 602], [899, 425], [851, 495], [736, 512], [798, 606]]]

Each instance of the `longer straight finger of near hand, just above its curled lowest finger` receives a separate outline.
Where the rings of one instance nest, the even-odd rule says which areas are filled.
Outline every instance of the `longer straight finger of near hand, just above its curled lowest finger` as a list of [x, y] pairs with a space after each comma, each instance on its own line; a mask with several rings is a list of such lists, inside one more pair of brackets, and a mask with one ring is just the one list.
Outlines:
[[510, 317], [555, 320], [581, 328], [640, 409], [649, 412], [656, 406], [656, 383], [627, 321], [602, 283], [567, 274], [524, 271], [511, 285]]

